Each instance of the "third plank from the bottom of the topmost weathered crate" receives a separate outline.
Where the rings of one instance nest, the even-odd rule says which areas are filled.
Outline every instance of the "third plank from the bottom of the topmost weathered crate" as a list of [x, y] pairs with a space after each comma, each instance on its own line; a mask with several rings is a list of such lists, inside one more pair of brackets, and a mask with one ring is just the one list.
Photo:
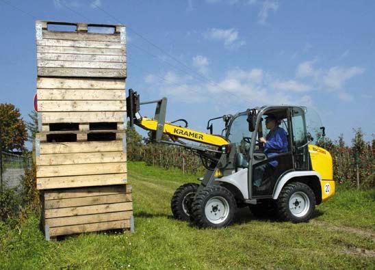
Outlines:
[[37, 53], [38, 60], [58, 61], [92, 61], [92, 62], [126, 62], [125, 55], [79, 55], [66, 53]]

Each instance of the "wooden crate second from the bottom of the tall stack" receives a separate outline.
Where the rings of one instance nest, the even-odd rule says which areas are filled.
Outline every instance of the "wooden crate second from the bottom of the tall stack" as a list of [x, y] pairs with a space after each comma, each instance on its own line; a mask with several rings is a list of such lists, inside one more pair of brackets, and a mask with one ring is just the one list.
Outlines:
[[36, 140], [37, 189], [125, 184], [126, 161], [125, 140]]

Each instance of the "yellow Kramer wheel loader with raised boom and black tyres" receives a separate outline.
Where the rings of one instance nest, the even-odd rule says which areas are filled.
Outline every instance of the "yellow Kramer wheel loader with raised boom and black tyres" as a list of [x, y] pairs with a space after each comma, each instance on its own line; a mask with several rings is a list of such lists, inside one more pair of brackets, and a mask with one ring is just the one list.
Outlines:
[[[140, 105], [151, 103], [156, 104], [155, 116], [141, 116]], [[325, 135], [325, 128], [313, 109], [255, 107], [212, 118], [207, 122], [209, 133], [203, 133], [188, 129], [183, 119], [166, 122], [166, 105], [167, 98], [141, 103], [139, 94], [129, 90], [130, 125], [152, 131], [158, 143], [192, 151], [205, 167], [201, 184], [186, 183], [174, 192], [174, 218], [189, 220], [199, 228], [222, 228], [231, 224], [237, 208], [249, 207], [255, 216], [275, 215], [298, 223], [311, 219], [315, 205], [335, 194], [331, 154], [315, 145]], [[287, 137], [287, 149], [272, 155], [264, 152], [261, 141], [270, 116]], [[224, 129], [221, 135], [214, 135], [213, 121], [218, 119], [223, 120]], [[268, 170], [256, 179], [259, 168], [265, 165]], [[256, 186], [255, 181], [261, 185]]]

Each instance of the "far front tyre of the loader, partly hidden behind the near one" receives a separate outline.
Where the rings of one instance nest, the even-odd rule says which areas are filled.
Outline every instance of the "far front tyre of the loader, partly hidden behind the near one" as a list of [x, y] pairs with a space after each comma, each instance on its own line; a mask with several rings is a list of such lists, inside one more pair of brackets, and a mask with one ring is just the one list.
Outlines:
[[170, 208], [175, 219], [189, 220], [190, 219], [190, 201], [194, 198], [196, 190], [199, 185], [195, 183], [184, 184], [172, 196]]

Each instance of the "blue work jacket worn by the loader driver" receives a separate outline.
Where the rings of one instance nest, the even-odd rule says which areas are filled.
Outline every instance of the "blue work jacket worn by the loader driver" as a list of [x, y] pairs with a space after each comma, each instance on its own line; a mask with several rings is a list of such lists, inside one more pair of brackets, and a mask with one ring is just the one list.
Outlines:
[[[266, 141], [263, 152], [267, 154], [267, 157], [288, 152], [287, 133], [280, 126], [267, 134]], [[270, 165], [276, 167], [279, 163], [277, 161], [270, 161]]]

